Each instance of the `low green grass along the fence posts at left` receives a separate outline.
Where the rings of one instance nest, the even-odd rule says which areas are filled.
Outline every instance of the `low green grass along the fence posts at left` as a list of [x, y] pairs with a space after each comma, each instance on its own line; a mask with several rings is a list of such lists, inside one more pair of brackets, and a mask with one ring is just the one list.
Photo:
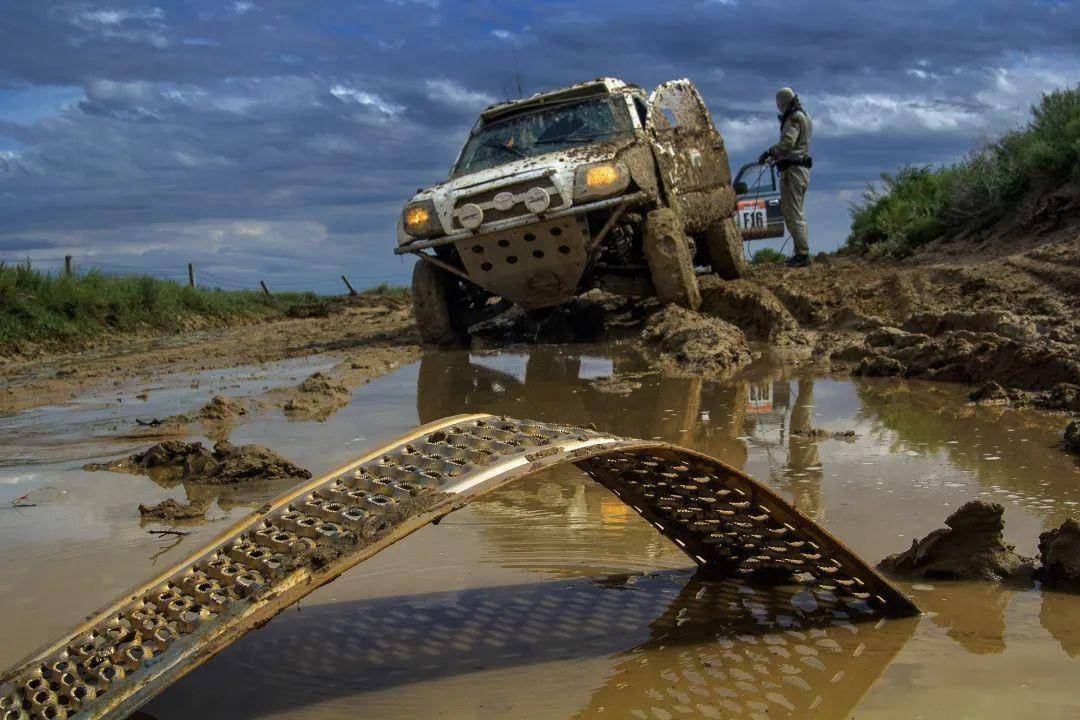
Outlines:
[[[387, 287], [365, 295], [401, 293]], [[268, 298], [256, 290], [194, 288], [149, 276], [98, 271], [53, 275], [29, 262], [0, 263], [0, 354], [31, 345], [71, 347], [108, 334], [168, 334], [296, 316], [298, 309], [322, 300], [314, 293], [276, 293]]]

